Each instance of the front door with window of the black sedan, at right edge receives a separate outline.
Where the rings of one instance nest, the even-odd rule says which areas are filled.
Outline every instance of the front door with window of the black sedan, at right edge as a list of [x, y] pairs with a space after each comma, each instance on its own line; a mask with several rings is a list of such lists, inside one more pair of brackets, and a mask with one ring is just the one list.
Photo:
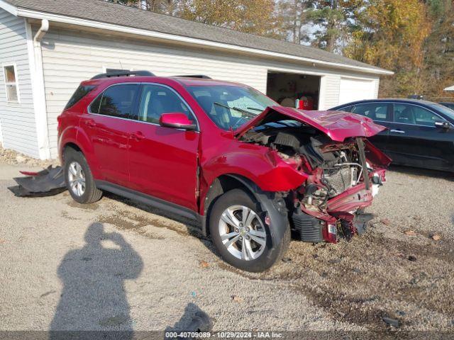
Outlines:
[[388, 153], [397, 164], [452, 169], [453, 130], [436, 128], [445, 121], [431, 110], [410, 103], [394, 103]]

